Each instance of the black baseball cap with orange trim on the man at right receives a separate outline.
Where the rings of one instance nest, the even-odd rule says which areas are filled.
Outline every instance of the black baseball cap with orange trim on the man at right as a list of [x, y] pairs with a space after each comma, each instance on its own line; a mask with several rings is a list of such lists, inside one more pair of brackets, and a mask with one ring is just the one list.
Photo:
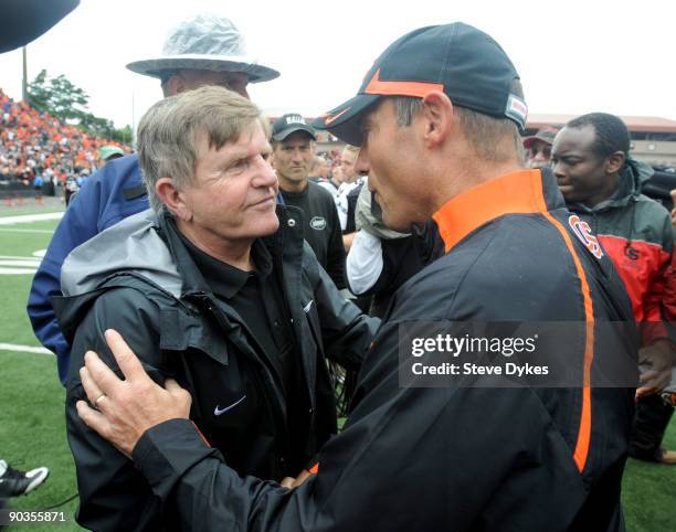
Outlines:
[[313, 126], [360, 146], [362, 114], [383, 96], [423, 98], [443, 91], [467, 107], [526, 126], [526, 102], [513, 94], [519, 75], [500, 45], [462, 22], [420, 28], [394, 41], [376, 60], [357, 96], [317, 118]]

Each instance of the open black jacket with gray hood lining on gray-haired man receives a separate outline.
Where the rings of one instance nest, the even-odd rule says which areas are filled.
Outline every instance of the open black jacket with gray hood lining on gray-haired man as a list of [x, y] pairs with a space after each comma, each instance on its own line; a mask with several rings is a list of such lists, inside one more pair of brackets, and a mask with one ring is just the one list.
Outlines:
[[85, 398], [78, 375], [84, 352], [95, 350], [115, 366], [103, 336], [108, 328], [123, 334], [157, 382], [172, 376], [190, 391], [192, 422], [241, 475], [295, 476], [336, 433], [325, 357], [359, 368], [378, 321], [338, 295], [302, 228], [288, 224], [288, 210], [279, 206], [281, 230], [254, 246], [270, 252], [271, 276], [283, 287], [297, 342], [306, 387], [305, 407], [295, 413], [304, 428], [296, 434], [287, 429], [278, 374], [246, 323], [213, 296], [169, 219], [148, 213], [127, 219], [64, 264], [67, 297], [55, 307], [66, 338], [74, 334], [66, 415], [82, 525], [127, 531], [177, 524], [162, 521], [159, 499], [131, 462], [75, 411], [75, 402]]

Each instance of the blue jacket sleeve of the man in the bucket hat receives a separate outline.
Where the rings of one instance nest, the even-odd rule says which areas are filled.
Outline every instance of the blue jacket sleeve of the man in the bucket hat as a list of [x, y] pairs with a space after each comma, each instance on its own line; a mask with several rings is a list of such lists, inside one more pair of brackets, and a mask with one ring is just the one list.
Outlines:
[[51, 296], [61, 294], [61, 266], [75, 247], [124, 217], [148, 208], [147, 196], [127, 201], [124, 195], [125, 190], [140, 184], [136, 156], [113, 161], [92, 175], [66, 209], [33, 278], [28, 315], [40, 342], [56, 354], [62, 383], [65, 383], [68, 371], [71, 347], [59, 328], [50, 302]]

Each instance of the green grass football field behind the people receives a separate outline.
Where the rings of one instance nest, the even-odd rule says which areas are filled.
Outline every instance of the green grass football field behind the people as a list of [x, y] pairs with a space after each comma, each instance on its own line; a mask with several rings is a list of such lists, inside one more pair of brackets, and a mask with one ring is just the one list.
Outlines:
[[[49, 209], [40, 212], [49, 212]], [[0, 217], [17, 214], [15, 210], [0, 211]], [[45, 231], [55, 225], [55, 221], [0, 225], [0, 256], [31, 257], [34, 252], [46, 248], [50, 233]], [[31, 275], [0, 275], [0, 294], [4, 301], [0, 343], [40, 345], [25, 316], [30, 284]], [[0, 350], [0, 458], [19, 469], [47, 466], [51, 470], [42, 487], [29, 496], [12, 499], [12, 507], [46, 509], [76, 496], [73, 459], [65, 438], [64, 390], [56, 377], [55, 358]], [[665, 446], [676, 448], [676, 421], [669, 426]], [[623, 494], [627, 530], [676, 530], [675, 490], [676, 466], [630, 460]], [[81, 530], [73, 518], [76, 507], [75, 498], [55, 509], [65, 512], [66, 523], [22, 524], [9, 530]]]

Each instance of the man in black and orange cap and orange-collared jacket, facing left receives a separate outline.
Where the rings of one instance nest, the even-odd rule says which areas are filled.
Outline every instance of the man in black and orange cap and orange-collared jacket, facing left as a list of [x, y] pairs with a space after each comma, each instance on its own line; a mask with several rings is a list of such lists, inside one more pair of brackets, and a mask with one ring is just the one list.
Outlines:
[[[357, 169], [384, 223], [416, 225], [430, 262], [395, 294], [352, 414], [294, 491], [229, 469], [184, 418], [189, 400], [152, 385], [122, 340], [110, 344], [126, 382], [88, 353], [87, 386], [109, 400], [103, 413], [81, 402], [81, 417], [133, 457], [183, 529], [622, 530], [633, 390], [593, 386], [591, 366], [635, 362], [635, 339], [595, 340], [601, 322], [631, 320], [631, 306], [591, 231], [571, 225], [551, 173], [524, 168], [520, 92], [490, 36], [429, 26], [391, 44], [359, 94], [318, 124], [361, 146]], [[556, 366], [570, 380], [515, 386], [448, 373], [425, 387], [400, 344], [405, 323], [422, 320], [557, 322], [572, 332], [542, 340], [543, 351], [563, 348]]]

